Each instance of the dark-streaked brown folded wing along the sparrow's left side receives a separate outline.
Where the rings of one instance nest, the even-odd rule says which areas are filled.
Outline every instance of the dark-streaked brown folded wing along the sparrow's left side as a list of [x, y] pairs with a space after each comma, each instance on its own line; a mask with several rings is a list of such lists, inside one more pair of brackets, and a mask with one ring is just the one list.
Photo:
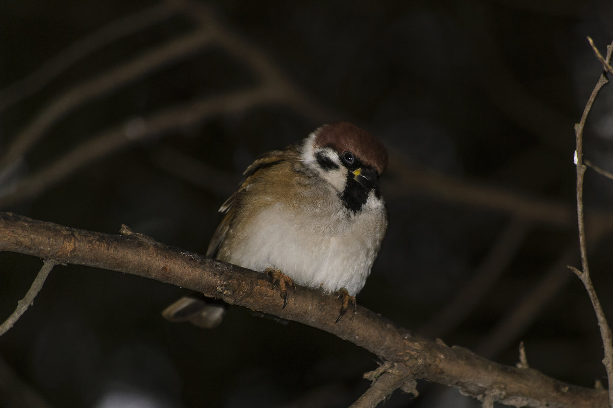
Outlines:
[[230, 198], [219, 208], [219, 212], [226, 214], [226, 216], [221, 220], [221, 224], [219, 224], [215, 230], [213, 238], [211, 238], [211, 242], [208, 244], [207, 257], [215, 258], [217, 256], [219, 247], [224, 241], [224, 238], [226, 238], [226, 234], [230, 230], [234, 216], [240, 208], [241, 197], [245, 194], [247, 187], [252, 183], [257, 173], [264, 168], [280, 164], [286, 161], [289, 156], [293, 155], [295, 155], [294, 146], [290, 146], [285, 150], [275, 150], [264, 153], [262, 156], [257, 157], [257, 159], [247, 167], [245, 172], [243, 172], [243, 180], [238, 185], [237, 191], [230, 195]]

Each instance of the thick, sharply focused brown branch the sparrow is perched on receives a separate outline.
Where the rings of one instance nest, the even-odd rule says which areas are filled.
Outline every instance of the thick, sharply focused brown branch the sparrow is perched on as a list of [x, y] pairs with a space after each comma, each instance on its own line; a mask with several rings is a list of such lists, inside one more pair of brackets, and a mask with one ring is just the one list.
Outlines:
[[606, 405], [603, 391], [568, 385], [534, 369], [499, 365], [462, 347], [428, 341], [362, 306], [335, 324], [338, 301], [318, 290], [300, 287], [281, 309], [278, 294], [270, 290], [264, 274], [142, 240], [136, 234], [88, 232], [0, 213], [0, 237], [0, 251], [156, 279], [319, 328], [384, 361], [406, 366], [416, 379], [457, 387], [475, 398], [514, 406]]

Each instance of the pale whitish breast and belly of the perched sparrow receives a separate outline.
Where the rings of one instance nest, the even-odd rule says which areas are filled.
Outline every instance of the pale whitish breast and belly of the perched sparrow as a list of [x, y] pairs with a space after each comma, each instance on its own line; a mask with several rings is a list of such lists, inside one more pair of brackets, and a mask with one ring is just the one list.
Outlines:
[[275, 268], [297, 284], [329, 293], [344, 288], [356, 295], [381, 246], [386, 210], [374, 192], [355, 214], [330, 198], [322, 202], [305, 196], [291, 207], [281, 202], [264, 206], [241, 225], [240, 233], [229, 231], [219, 259], [256, 271]]

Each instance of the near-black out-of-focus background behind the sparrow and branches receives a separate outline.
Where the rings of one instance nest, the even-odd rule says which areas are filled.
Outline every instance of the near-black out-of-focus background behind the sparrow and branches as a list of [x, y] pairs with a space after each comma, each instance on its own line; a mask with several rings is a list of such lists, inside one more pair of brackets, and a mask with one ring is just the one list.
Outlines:
[[[322, 123], [350, 120], [381, 138], [391, 157], [381, 181], [389, 232], [359, 303], [508, 365], [523, 340], [531, 367], [544, 374], [585, 387], [606, 382], [592, 306], [565, 265], [580, 265], [573, 126], [602, 72], [586, 36], [606, 52], [610, 1], [169, 1], [155, 23], [90, 47], [8, 105], [36, 80], [18, 81], [41, 67], [37, 75], [49, 74], [45, 63], [69, 61], [71, 45], [100, 30], [108, 39], [118, 32], [108, 28], [114, 21], [123, 19], [123, 29], [154, 5], [0, 2], [0, 156], [64, 93], [206, 29], [206, 18], [235, 40], [213, 40], [107, 92], [79, 88], [64, 97], [64, 106], [83, 100], [0, 170], [0, 210], [107, 233], [127, 224], [205, 252], [221, 219], [217, 208], [254, 157]], [[162, 111], [261, 85], [253, 60], [243, 58], [249, 53], [278, 69], [308, 104], [280, 97], [237, 108], [244, 102], [237, 94], [215, 112], [175, 120], [163, 132], [151, 128]], [[612, 92], [605, 86], [585, 130], [585, 158], [610, 171]], [[145, 130], [116, 149], [89, 148], [96, 154], [78, 167], [70, 167], [74, 158], [60, 162], [55, 168], [70, 172], [41, 188], [25, 184], [109, 129]], [[613, 181], [590, 169], [585, 189], [596, 220], [588, 234], [601, 227], [588, 239], [593, 280], [611, 316]], [[500, 262], [484, 273], [492, 282], [471, 282], [488, 256]], [[41, 263], [0, 254], [1, 316], [14, 310]], [[477, 298], [470, 290], [479, 288], [485, 295]], [[212, 331], [166, 322], [161, 310], [182, 293], [126, 274], [56, 266], [34, 306], [0, 338], [0, 382], [18, 378], [48, 406], [99, 408], [345, 407], [367, 389], [362, 374], [376, 368], [376, 357], [349, 342], [238, 307]], [[452, 309], [475, 306], [443, 325], [436, 317], [458, 293], [465, 299]], [[419, 398], [398, 391], [386, 407], [476, 404], [438, 385], [418, 388]], [[11, 402], [17, 389], [0, 392], [0, 406], [24, 406]]]

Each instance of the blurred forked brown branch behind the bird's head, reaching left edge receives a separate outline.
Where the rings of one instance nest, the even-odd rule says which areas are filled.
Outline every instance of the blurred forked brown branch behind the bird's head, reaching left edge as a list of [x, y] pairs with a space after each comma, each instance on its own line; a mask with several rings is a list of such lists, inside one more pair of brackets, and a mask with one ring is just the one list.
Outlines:
[[257, 83], [238, 91], [170, 107], [144, 118], [131, 118], [113, 129], [103, 131], [40, 168], [36, 173], [16, 180], [4, 190], [4, 194], [0, 192], [0, 207], [36, 197], [84, 165], [129, 148], [135, 142], [183, 129], [213, 115], [240, 113], [262, 104], [277, 104], [299, 112], [316, 123], [324, 123], [338, 117], [338, 113], [319, 106], [297, 89], [268, 56], [244, 37], [225, 28], [204, 4], [184, 3], [181, 0], [169, 0], [168, 4], [178, 12], [185, 13], [186, 17], [195, 18], [202, 26], [201, 29], [143, 53], [120, 66], [112, 67], [57, 97], [13, 139], [6, 152], [0, 154], [0, 172], [20, 161], [53, 124], [74, 108], [208, 45], [221, 46], [229, 55], [242, 61], [253, 70], [258, 78]]

